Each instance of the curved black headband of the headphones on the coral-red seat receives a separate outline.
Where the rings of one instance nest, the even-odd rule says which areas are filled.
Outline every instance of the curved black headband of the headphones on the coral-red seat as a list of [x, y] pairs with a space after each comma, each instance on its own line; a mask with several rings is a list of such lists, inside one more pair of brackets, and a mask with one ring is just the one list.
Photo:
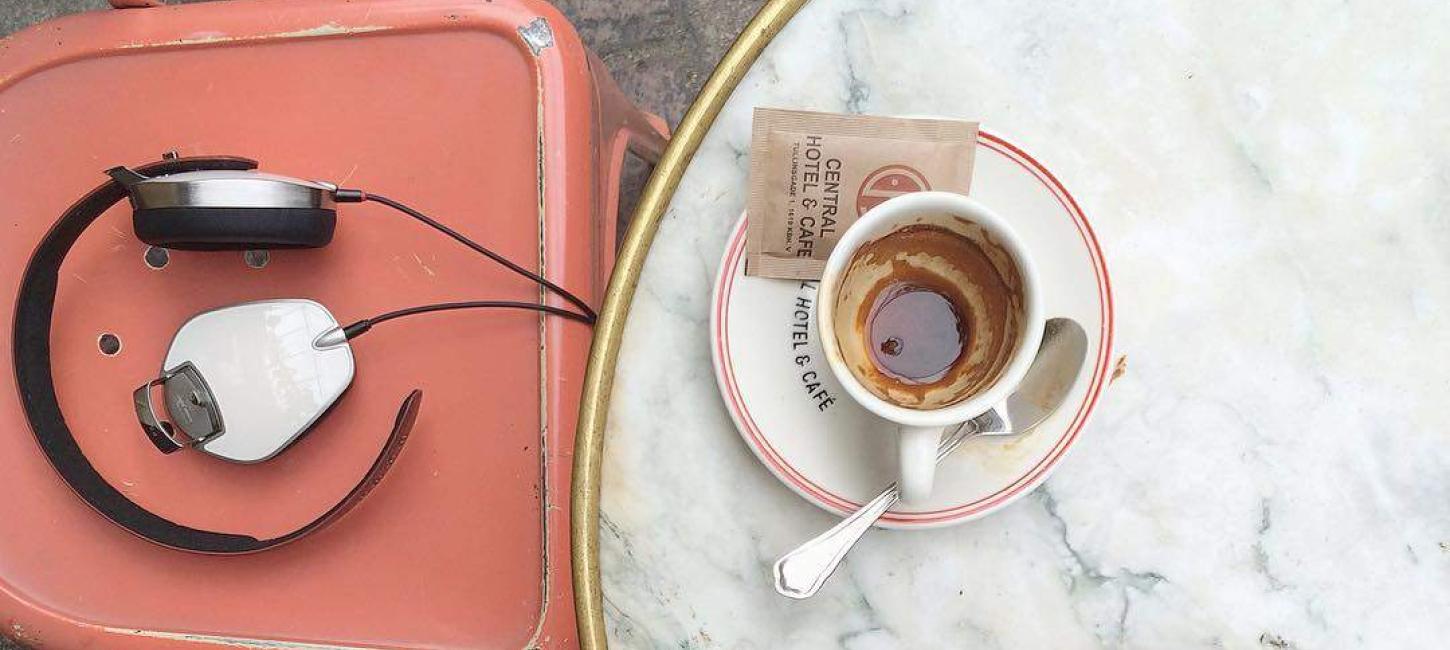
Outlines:
[[[148, 176], [161, 176], [181, 171], [254, 168], [257, 168], [257, 162], [246, 158], [216, 157], [173, 158], [136, 170]], [[413, 390], [403, 399], [387, 444], [383, 445], [368, 473], [342, 501], [302, 528], [268, 540], [233, 532], [204, 531], [165, 519], [128, 499], [86, 460], [86, 454], [81, 453], [70, 427], [65, 425], [65, 416], [61, 414], [59, 400], [55, 396], [55, 383], [51, 377], [51, 318], [55, 309], [61, 261], [65, 260], [65, 254], [70, 252], [86, 228], [125, 197], [126, 189], [120, 183], [107, 181], [72, 205], [41, 239], [41, 245], [30, 255], [30, 261], [25, 267], [25, 277], [20, 280], [20, 296], [14, 310], [14, 377], [20, 387], [20, 403], [25, 406], [25, 415], [30, 421], [30, 429], [35, 432], [41, 450], [45, 451], [45, 457], [65, 479], [65, 483], [96, 512], [145, 540], [171, 548], [215, 554], [255, 553], [297, 540], [339, 519], [361, 502], [393, 466], [393, 460], [402, 451], [403, 443], [407, 441], [407, 434], [413, 428], [413, 421], [418, 418], [418, 406], [423, 399], [420, 390]]]

